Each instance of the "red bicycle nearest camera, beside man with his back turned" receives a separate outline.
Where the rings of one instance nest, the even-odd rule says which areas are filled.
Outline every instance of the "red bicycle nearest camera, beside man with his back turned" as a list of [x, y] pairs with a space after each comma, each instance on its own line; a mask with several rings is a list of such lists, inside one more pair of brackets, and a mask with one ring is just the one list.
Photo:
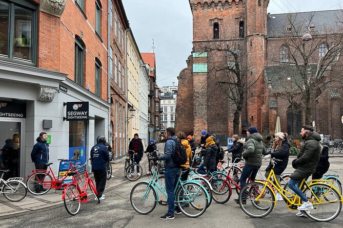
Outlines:
[[[89, 160], [91, 159], [92, 158], [89, 158]], [[87, 164], [87, 161], [82, 166], [74, 166], [74, 167], [84, 167], [86, 164]], [[66, 188], [63, 190], [62, 199], [64, 202], [64, 207], [66, 208], [69, 214], [76, 215], [80, 210], [81, 203], [88, 201], [89, 199], [88, 194], [87, 194], [88, 188], [91, 191], [91, 193], [95, 196], [94, 199], [97, 200], [97, 203], [100, 203], [99, 198], [96, 196], [97, 191], [94, 186], [93, 180], [89, 177], [86, 169], [85, 169], [85, 182], [83, 185], [80, 185], [77, 179], [75, 178], [75, 176], [77, 176], [77, 172], [69, 172], [67, 175], [72, 176], [73, 181], [72, 183], [68, 184]]]

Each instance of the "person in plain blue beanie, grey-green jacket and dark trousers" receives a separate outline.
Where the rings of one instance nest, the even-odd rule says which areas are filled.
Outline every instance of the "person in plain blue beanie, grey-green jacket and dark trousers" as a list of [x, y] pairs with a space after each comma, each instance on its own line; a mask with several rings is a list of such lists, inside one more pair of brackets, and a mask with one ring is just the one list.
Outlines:
[[[262, 165], [262, 154], [266, 154], [266, 148], [262, 143], [262, 136], [257, 132], [256, 127], [249, 127], [247, 136], [247, 150], [242, 154], [246, 165], [243, 167], [239, 178], [240, 188], [243, 188], [247, 184], [249, 177], [255, 180], [259, 167]], [[239, 204], [238, 199], [234, 199], [234, 201]], [[242, 203], [245, 204], [245, 202], [246, 200], [243, 199]]]

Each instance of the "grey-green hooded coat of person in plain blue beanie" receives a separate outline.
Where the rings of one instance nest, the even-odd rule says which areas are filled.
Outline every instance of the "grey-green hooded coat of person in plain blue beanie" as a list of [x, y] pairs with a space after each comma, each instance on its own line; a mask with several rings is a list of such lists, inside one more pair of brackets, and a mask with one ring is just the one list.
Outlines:
[[248, 166], [261, 166], [262, 154], [266, 153], [266, 148], [262, 143], [262, 136], [255, 132], [250, 134], [247, 141], [247, 150], [243, 152], [242, 156]]

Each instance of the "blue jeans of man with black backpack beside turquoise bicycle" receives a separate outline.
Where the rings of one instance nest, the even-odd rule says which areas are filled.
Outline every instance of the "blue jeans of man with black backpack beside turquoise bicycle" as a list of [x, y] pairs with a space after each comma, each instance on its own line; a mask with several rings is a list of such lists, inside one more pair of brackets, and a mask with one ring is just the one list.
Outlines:
[[168, 214], [174, 215], [175, 195], [174, 190], [180, 176], [180, 168], [173, 167], [165, 170], [166, 191], [168, 195]]

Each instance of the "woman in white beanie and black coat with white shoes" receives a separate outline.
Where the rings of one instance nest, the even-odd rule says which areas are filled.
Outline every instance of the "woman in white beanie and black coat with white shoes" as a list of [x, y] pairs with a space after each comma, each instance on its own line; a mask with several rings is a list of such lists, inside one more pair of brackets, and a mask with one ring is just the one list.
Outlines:
[[[266, 160], [271, 157], [281, 160], [281, 161], [276, 161], [276, 164], [274, 166], [274, 174], [276, 177], [276, 179], [274, 180], [274, 183], [280, 179], [280, 175], [287, 168], [289, 148], [291, 147], [291, 145], [288, 143], [287, 135], [288, 135], [287, 133], [277, 132], [275, 134], [275, 141], [272, 147], [272, 152], [264, 156]], [[266, 168], [266, 173], [265, 173], [266, 178], [268, 178], [269, 173], [272, 170], [272, 168], [273, 168], [273, 164], [270, 162], [268, 167]], [[281, 201], [281, 200], [284, 200], [284, 198], [281, 196], [280, 193], [276, 193], [276, 200]]]

